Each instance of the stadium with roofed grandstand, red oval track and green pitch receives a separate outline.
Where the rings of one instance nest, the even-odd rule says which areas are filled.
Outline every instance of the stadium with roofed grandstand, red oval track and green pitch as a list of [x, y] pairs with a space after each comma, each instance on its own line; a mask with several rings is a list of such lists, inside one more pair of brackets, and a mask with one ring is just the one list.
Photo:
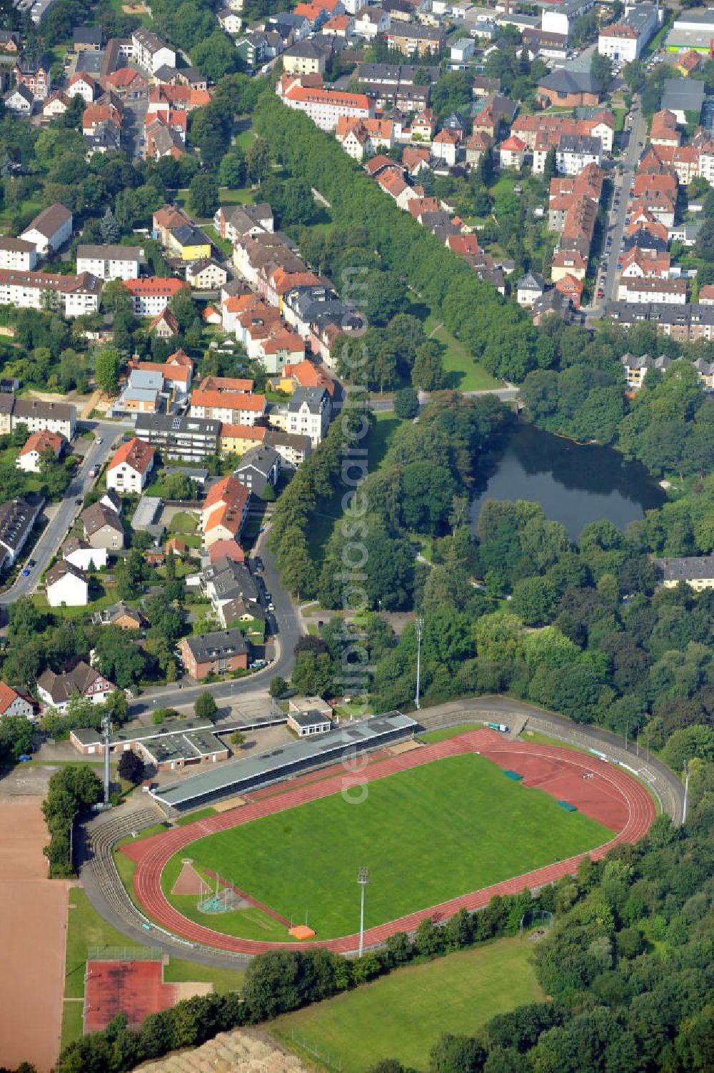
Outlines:
[[166, 810], [221, 811], [121, 847], [135, 900], [218, 950], [352, 953], [362, 893], [375, 945], [551, 883], [655, 818], [645, 787], [602, 756], [489, 727], [423, 744], [416, 727], [391, 712], [157, 791]]

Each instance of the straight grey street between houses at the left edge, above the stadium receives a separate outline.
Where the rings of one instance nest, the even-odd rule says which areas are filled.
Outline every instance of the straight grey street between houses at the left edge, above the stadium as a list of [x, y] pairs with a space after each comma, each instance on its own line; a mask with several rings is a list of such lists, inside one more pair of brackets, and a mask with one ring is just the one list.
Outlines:
[[112, 452], [117, 433], [121, 433], [122, 431], [122, 427], [115, 422], [98, 421], [83, 422], [82, 424], [88, 424], [94, 436], [102, 439], [102, 443], [97, 443], [96, 440], [91, 443], [81, 469], [70, 482], [67, 494], [57, 506], [54, 517], [47, 524], [35, 546], [32, 549], [28, 548], [25, 559], [31, 558], [37, 562], [37, 565], [32, 567], [30, 571], [30, 576], [23, 577], [20, 573], [12, 588], [8, 589], [6, 592], [0, 593], [0, 605], [8, 606], [19, 600], [20, 597], [28, 596], [34, 591], [43, 571], [47, 568], [47, 563], [57, 554], [74, 519], [82, 510], [77, 505], [76, 500], [84, 499], [93, 484], [93, 477], [89, 476], [89, 470], [93, 466], [101, 468], [104, 465]]

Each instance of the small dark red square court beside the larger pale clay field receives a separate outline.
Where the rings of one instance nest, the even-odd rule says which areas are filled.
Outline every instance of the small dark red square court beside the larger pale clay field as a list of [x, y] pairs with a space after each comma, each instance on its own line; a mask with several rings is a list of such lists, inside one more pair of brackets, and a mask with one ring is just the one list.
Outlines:
[[163, 982], [162, 961], [87, 961], [84, 1030], [99, 1032], [119, 1013], [137, 1027], [179, 998], [180, 987]]

